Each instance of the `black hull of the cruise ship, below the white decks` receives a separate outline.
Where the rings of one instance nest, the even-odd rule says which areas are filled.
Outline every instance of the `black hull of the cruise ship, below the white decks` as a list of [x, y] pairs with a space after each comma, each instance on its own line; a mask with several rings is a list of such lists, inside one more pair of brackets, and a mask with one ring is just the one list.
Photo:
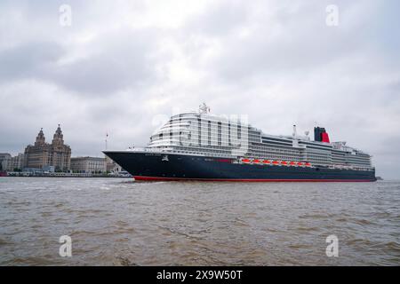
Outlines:
[[[187, 154], [104, 151], [137, 180], [376, 181], [375, 171], [268, 166]], [[165, 159], [164, 159], [165, 160]]]

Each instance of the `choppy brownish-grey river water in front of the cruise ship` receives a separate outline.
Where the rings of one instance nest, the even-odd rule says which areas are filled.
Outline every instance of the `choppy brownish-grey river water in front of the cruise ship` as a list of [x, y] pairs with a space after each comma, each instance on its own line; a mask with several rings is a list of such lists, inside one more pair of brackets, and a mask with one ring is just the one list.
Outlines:
[[[0, 264], [399, 265], [399, 205], [388, 181], [0, 177]], [[338, 257], [325, 254], [331, 234]]]

